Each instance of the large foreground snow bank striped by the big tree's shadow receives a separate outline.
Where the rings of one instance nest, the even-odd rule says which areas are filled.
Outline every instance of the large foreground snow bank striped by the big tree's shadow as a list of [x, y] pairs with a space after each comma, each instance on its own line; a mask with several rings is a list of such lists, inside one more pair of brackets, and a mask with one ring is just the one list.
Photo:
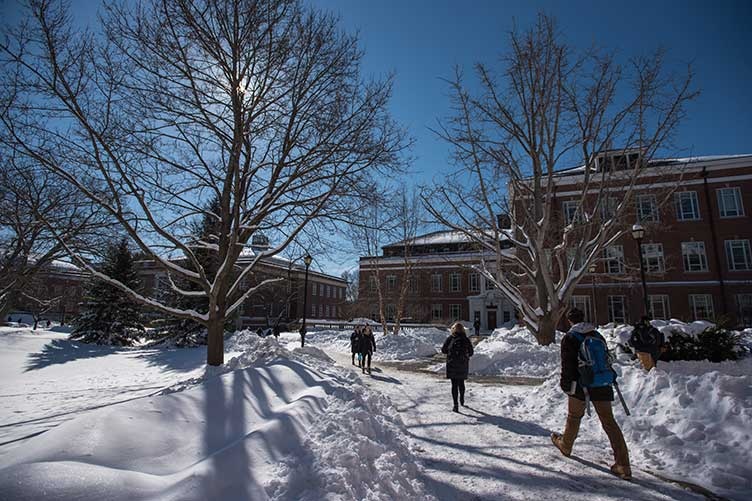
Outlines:
[[0, 459], [9, 499], [431, 499], [391, 403], [316, 347], [247, 351]]

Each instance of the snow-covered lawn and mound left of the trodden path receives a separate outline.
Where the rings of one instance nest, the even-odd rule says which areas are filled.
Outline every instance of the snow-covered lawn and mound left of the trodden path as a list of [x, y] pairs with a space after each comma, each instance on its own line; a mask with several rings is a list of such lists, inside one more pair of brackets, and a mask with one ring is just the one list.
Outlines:
[[[431, 499], [384, 396], [313, 347], [247, 332], [228, 345], [247, 351], [204, 370], [202, 349], [101, 351], [3, 331], [0, 426], [17, 441], [0, 446], [0, 497]], [[45, 396], [25, 401], [31, 387]], [[62, 424], [48, 417], [59, 407]], [[29, 422], [44, 433], [13, 447]]]

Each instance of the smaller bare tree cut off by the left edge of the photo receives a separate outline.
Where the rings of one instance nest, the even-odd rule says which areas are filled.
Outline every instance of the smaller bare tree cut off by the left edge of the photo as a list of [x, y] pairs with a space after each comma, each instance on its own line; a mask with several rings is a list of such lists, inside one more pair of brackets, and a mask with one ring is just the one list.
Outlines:
[[40, 272], [67, 255], [45, 221], [80, 252], [90, 252], [108, 231], [102, 211], [77, 190], [5, 153], [0, 154], [0, 318], [21, 298], [41, 313], [59, 300], [36, 294]]

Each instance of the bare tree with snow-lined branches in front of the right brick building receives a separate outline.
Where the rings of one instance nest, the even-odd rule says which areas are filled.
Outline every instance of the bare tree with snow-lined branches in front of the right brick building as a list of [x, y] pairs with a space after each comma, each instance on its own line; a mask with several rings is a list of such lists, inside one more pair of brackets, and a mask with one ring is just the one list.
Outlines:
[[[625, 232], [635, 183], [655, 175], [647, 165], [668, 146], [696, 92], [690, 70], [667, 75], [661, 52], [626, 66], [602, 51], [574, 54], [543, 15], [510, 41], [501, 75], [476, 65], [478, 95], [457, 71], [454, 115], [437, 132], [452, 145], [459, 172], [423, 198], [436, 220], [494, 256], [480, 271], [546, 345], [590, 264]], [[618, 168], [601, 155], [615, 143], [627, 161]], [[565, 163], [582, 166], [582, 196], [571, 221], [559, 225], [556, 171]], [[510, 229], [499, 214], [509, 214]]]

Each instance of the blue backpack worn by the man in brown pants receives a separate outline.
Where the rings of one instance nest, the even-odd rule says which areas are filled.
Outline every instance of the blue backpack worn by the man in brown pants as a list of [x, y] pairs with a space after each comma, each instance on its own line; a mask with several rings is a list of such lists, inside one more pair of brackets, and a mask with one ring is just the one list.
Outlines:
[[606, 341], [600, 334], [597, 336], [585, 336], [579, 332], [572, 335], [580, 342], [580, 350], [577, 353], [577, 368], [579, 378], [577, 382], [585, 393], [585, 405], [590, 416], [590, 392], [589, 388], [602, 388], [613, 385], [621, 401], [624, 412], [629, 416], [629, 409], [621, 394], [619, 385], [616, 383], [616, 371], [612, 367], [614, 357], [606, 346]]

